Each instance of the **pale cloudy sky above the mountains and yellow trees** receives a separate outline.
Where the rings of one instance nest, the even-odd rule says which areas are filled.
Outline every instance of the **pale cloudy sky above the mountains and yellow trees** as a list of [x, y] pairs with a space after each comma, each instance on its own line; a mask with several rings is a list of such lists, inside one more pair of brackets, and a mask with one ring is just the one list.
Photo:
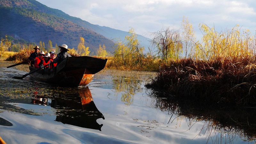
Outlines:
[[196, 39], [204, 23], [217, 32], [239, 25], [256, 30], [255, 0], [36, 0], [92, 24], [129, 31], [152, 38], [148, 32], [170, 27], [179, 30], [183, 16], [192, 23]]

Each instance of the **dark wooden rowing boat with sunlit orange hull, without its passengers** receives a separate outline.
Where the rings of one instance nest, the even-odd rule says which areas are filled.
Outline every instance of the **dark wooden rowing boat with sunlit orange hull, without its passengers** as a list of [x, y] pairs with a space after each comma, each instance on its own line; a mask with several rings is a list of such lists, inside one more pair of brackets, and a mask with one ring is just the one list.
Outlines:
[[[51, 84], [65, 87], [85, 86], [92, 81], [94, 74], [102, 70], [107, 59], [89, 56], [67, 57], [54, 68], [40, 69], [30, 74], [32, 77]], [[34, 71], [36, 68], [30, 67]]]

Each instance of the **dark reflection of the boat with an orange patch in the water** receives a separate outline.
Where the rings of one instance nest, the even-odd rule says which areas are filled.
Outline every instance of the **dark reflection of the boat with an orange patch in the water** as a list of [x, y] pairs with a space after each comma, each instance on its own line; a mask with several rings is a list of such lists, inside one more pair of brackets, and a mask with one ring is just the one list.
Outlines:
[[95, 106], [88, 87], [77, 93], [53, 97], [51, 107], [57, 109], [58, 122], [101, 131], [103, 124], [96, 120], [105, 118]]

